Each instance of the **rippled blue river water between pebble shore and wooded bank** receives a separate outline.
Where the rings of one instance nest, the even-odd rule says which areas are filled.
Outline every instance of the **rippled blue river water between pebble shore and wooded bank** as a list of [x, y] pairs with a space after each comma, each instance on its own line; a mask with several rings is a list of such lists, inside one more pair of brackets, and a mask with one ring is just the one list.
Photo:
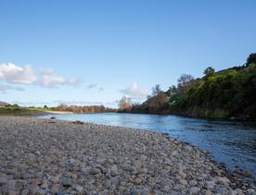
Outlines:
[[[208, 121], [181, 116], [99, 113], [54, 115], [63, 120], [147, 129], [168, 133], [189, 142], [231, 169], [241, 168], [256, 177], [256, 126], [237, 122]], [[40, 116], [50, 118], [51, 115]]]

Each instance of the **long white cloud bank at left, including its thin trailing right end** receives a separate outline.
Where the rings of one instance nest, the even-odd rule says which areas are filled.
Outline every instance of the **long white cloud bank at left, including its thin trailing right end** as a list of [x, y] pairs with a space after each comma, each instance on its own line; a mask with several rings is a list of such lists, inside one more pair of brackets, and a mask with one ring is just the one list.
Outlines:
[[0, 80], [16, 84], [34, 84], [45, 88], [58, 88], [60, 85], [77, 85], [78, 79], [66, 79], [54, 74], [52, 68], [33, 70], [30, 66], [19, 67], [11, 63], [0, 64]]

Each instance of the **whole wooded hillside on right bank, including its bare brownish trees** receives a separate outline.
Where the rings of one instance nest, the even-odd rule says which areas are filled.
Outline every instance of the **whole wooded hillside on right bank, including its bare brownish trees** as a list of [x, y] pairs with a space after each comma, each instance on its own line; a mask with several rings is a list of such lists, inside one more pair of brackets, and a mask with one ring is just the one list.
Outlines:
[[207, 67], [204, 74], [201, 79], [182, 75], [177, 87], [158, 91], [131, 111], [256, 120], [256, 54], [251, 54], [244, 66], [219, 72]]

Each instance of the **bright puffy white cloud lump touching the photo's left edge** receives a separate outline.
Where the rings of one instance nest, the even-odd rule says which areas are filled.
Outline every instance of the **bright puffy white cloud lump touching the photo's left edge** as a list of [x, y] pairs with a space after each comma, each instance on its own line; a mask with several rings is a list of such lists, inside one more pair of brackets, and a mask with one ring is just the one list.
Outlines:
[[11, 63], [0, 64], [0, 79], [19, 84], [32, 84], [36, 81], [32, 67], [18, 67]]

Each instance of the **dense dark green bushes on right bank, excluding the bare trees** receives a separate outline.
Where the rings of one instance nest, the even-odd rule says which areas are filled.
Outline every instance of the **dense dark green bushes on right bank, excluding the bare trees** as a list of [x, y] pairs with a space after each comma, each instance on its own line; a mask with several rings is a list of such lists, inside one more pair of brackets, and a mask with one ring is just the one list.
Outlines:
[[233, 67], [200, 79], [176, 99], [171, 112], [209, 118], [256, 116], [256, 64]]

